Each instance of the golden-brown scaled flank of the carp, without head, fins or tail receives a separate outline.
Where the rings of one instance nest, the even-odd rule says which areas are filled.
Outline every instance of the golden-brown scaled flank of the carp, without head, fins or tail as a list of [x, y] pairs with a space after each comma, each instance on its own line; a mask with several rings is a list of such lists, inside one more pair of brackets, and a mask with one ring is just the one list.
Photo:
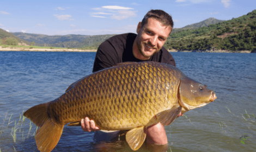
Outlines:
[[[147, 68], [149, 68], [148, 71], [145, 70], [142, 72], [143, 69]], [[94, 78], [87, 77], [83, 79], [83, 81], [77, 83], [72, 90], [69, 90], [59, 99], [57, 99], [56, 103], [51, 105], [53, 108], [50, 107], [50, 109], [53, 111], [59, 111], [59, 115], [64, 116], [65, 110], [63, 110], [63, 107], [55, 106], [55, 104], [62, 103], [63, 98], [68, 99], [70, 103], [78, 103], [74, 101], [74, 99], [79, 99], [79, 103], [81, 103], [80, 107], [86, 107], [87, 110], [77, 108], [75, 104], [65, 104], [67, 106], [65, 109], [72, 109], [72, 115], [65, 115], [66, 118], [62, 117], [62, 121], [64, 123], [69, 123], [70, 121], [75, 122], [84, 116], [88, 116], [89, 118], [94, 119], [96, 124], [99, 125], [101, 129], [105, 130], [114, 130], [118, 127], [120, 127], [119, 130], [132, 129], [140, 125], [146, 125], [148, 123], [148, 119], [153, 117], [152, 115], [156, 115], [158, 112], [160, 112], [160, 110], [164, 109], [164, 104], [161, 103], [168, 102], [168, 100], [161, 98], [164, 96], [165, 92], [168, 91], [168, 89], [160, 90], [160, 88], [162, 88], [162, 84], [165, 83], [167, 78], [163, 77], [158, 79], [158, 77], [161, 77], [163, 73], [168, 73], [163, 72], [164, 69], [166, 69], [164, 65], [153, 66], [152, 64], [149, 65], [147, 63], [108, 69], [95, 75]], [[152, 79], [148, 83], [145, 81], [148, 80], [145, 79], [147, 77], [146, 73], [148, 74], [148, 77]], [[172, 73], [169, 72], [169, 77], [170, 74]], [[128, 76], [129, 79], [127, 80]], [[176, 85], [178, 85], [178, 82], [176, 82]], [[83, 88], [82, 86], [87, 87]], [[114, 92], [110, 91], [112, 88]], [[146, 93], [143, 91], [144, 88], [147, 88]], [[113, 99], [114, 96], [116, 99]], [[141, 96], [144, 97], [141, 98]], [[138, 102], [137, 98], [141, 98], [141, 100], [139, 100], [141, 102], [140, 104], [136, 104]], [[123, 101], [124, 103], [119, 103], [119, 100]], [[142, 102], [145, 104], [143, 105], [144, 107], [150, 108], [141, 108], [139, 105], [141, 105]], [[97, 106], [96, 103], [98, 104]], [[154, 106], [152, 106], [152, 103], [155, 103], [153, 104]], [[117, 109], [114, 109], [114, 105], [119, 107], [118, 111]], [[101, 106], [105, 108], [101, 109]], [[123, 108], [129, 109], [129, 112], [132, 113], [131, 117], [127, 118], [126, 115], [123, 114]], [[141, 112], [141, 109], [143, 109], [144, 112]], [[144, 119], [139, 117], [145, 113], [146, 109], [148, 111], [147, 113], [149, 114], [148, 119], [145, 119], [147, 121], [144, 121]], [[87, 112], [84, 113], [83, 111]], [[105, 115], [99, 118], [99, 114], [95, 113], [94, 111], [98, 111], [97, 113], [105, 113]], [[140, 116], [136, 117], [137, 112]], [[122, 124], [120, 124], [120, 119], [123, 118], [125, 119], [122, 121]], [[97, 119], [99, 119], [99, 121]], [[103, 119], [105, 121], [101, 121]], [[65, 120], [69, 120], [69, 122], [66, 122]], [[132, 120], [132, 124], [130, 124], [130, 120]], [[129, 124], [129, 126], [127, 124]]]

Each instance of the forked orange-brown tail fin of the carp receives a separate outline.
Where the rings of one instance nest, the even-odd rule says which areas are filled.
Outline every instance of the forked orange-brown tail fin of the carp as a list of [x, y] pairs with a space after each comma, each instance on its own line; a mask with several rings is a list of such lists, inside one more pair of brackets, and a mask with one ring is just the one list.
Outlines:
[[64, 128], [64, 125], [51, 121], [47, 112], [48, 104], [33, 106], [23, 114], [40, 127], [35, 134], [35, 142], [40, 151], [51, 151], [56, 147]]

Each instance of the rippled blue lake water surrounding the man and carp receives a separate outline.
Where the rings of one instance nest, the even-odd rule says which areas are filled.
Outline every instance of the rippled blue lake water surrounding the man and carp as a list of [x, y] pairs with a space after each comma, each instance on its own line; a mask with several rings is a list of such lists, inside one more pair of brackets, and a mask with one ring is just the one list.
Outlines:
[[[256, 54], [172, 55], [182, 72], [218, 98], [166, 126], [167, 151], [255, 151]], [[58, 98], [92, 73], [94, 57], [93, 52], [0, 52], [0, 149], [37, 151], [36, 126], [20, 115]], [[53, 151], [132, 151], [125, 141], [99, 143], [93, 135], [79, 126], [65, 126]], [[153, 151], [148, 145], [143, 148], [138, 151]]]

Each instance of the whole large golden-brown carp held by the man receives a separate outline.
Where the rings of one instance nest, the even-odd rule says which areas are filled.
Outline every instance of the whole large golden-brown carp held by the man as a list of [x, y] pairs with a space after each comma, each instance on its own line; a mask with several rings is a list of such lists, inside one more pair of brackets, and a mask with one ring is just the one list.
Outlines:
[[52, 102], [28, 109], [24, 116], [40, 128], [35, 141], [51, 151], [66, 123], [89, 117], [102, 130], [130, 130], [126, 141], [139, 149], [146, 128], [169, 125], [180, 112], [213, 102], [215, 92], [186, 77], [178, 68], [159, 62], [129, 62], [84, 77]]

